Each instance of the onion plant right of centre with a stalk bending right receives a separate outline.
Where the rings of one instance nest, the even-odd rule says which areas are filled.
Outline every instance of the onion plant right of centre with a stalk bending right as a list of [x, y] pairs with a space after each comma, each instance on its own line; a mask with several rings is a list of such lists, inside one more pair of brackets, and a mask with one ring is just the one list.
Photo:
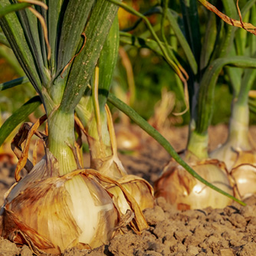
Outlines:
[[[226, 14], [234, 15], [235, 5], [226, 1], [223, 1], [223, 5]], [[189, 141], [183, 157], [209, 182], [224, 190], [226, 189], [227, 192], [232, 192], [233, 184], [230, 182], [231, 179], [226, 171], [225, 164], [215, 159], [209, 159], [208, 156], [207, 130], [212, 118], [214, 88], [218, 74], [225, 65], [255, 67], [255, 61], [250, 57], [229, 57], [235, 28], [225, 25], [221, 30], [218, 30], [216, 18], [212, 13], [209, 14], [201, 54], [196, 51], [200, 48], [200, 41], [191, 37], [194, 34], [200, 34], [200, 31], [199, 27], [195, 26], [199, 21], [196, 22], [195, 15], [192, 15], [196, 11], [196, 6], [194, 5], [194, 11], [192, 11], [192, 6], [189, 7], [191, 16], [186, 16], [185, 20], [188, 20], [186, 23], [190, 25], [187, 28], [189, 30], [187, 38], [197, 60], [199, 71], [194, 76], [189, 77], [191, 123]], [[186, 8], [184, 6], [184, 10]], [[245, 6], [245, 8], [248, 8], [248, 6]], [[245, 11], [248, 11], [248, 9], [242, 10], [242, 12]], [[208, 33], [208, 31], [210, 32]], [[201, 37], [199, 36], [199, 38]], [[192, 72], [189, 72], [189, 74], [192, 74]], [[157, 195], [165, 196], [177, 208], [202, 208], [207, 206], [222, 208], [230, 203], [227, 199], [225, 200], [215, 192], [208, 190], [202, 183], [195, 182], [172, 161], [169, 166], [166, 166], [162, 177], [156, 182], [155, 189]], [[177, 191], [179, 192], [177, 193]]]

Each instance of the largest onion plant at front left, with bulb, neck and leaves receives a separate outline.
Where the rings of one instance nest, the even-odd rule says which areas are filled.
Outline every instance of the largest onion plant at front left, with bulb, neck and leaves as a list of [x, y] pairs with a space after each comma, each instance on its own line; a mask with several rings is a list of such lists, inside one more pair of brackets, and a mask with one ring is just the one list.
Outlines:
[[[0, 18], [0, 25], [44, 105], [48, 133], [37, 132], [45, 120], [42, 117], [32, 126], [21, 126], [15, 136], [13, 148], [20, 159], [15, 172], [17, 183], [8, 191], [2, 207], [3, 235], [30, 245], [36, 254], [60, 254], [75, 245], [95, 248], [115, 234], [120, 221], [117, 206], [99, 180], [119, 183], [94, 170], [81, 169], [74, 110], [94, 73], [118, 7], [94, 0], [32, 3], [2, 1], [5, 14], [6, 10], [27, 8], [9, 12]], [[45, 156], [31, 166], [27, 156], [34, 133], [45, 142]], [[23, 167], [29, 173], [21, 179]], [[123, 187], [120, 189], [133, 212], [133, 228], [146, 228], [136, 202]]]

